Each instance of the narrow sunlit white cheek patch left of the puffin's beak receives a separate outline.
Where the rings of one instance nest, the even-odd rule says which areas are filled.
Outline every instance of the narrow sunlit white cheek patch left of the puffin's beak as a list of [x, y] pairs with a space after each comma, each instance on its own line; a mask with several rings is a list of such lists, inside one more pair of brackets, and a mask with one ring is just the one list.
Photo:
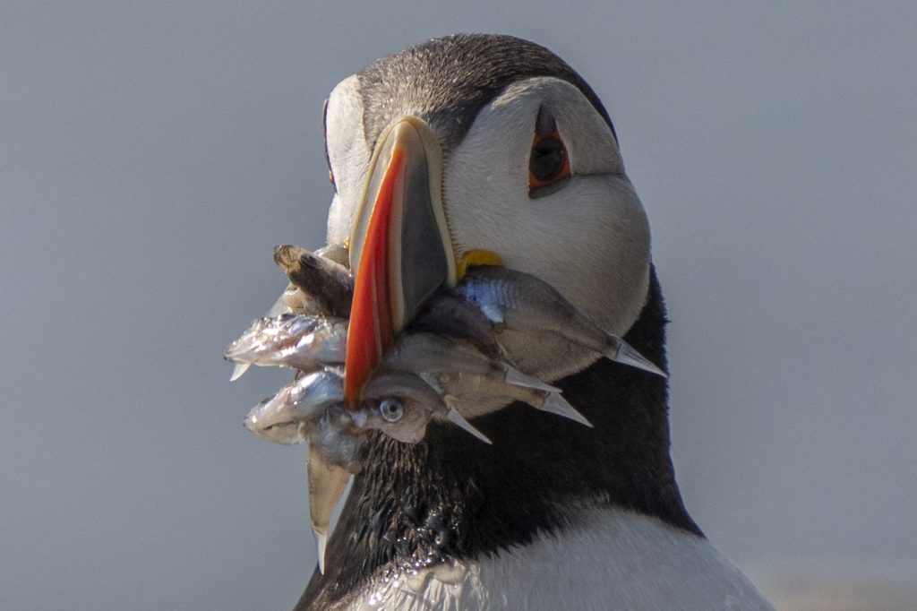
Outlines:
[[356, 75], [341, 81], [328, 97], [326, 113], [328, 159], [335, 175], [337, 194], [328, 212], [329, 243], [343, 244], [370, 169], [370, 149], [363, 134], [363, 102]]

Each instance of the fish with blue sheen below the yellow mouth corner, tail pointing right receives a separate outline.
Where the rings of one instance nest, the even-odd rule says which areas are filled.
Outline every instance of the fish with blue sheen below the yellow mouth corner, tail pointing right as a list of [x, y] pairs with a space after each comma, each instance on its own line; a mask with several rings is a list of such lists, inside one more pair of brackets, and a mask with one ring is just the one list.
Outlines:
[[[606, 333], [557, 289], [532, 274], [500, 266], [479, 266], [470, 268], [452, 290], [476, 305], [497, 329], [498, 336], [510, 330], [527, 337], [529, 354], [534, 351], [530, 346], [533, 339], [539, 334], [550, 334], [612, 361], [668, 377], [624, 339]], [[515, 357], [514, 350], [503, 339], [503, 347]], [[545, 362], [556, 358], [553, 354], [541, 356]], [[538, 369], [525, 367], [529, 373]]]

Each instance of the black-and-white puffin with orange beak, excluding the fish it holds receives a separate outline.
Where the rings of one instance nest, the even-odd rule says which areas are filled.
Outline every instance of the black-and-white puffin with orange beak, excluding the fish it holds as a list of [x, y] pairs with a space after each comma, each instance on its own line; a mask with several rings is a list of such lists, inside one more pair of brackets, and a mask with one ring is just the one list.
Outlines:
[[[354, 275], [345, 396], [473, 265], [536, 275], [667, 369], [646, 213], [611, 117], [551, 51], [504, 35], [432, 39], [333, 89], [329, 243]], [[433, 422], [374, 434], [297, 610], [770, 609], [679, 494], [663, 376], [510, 338], [580, 423], [499, 405], [490, 444]]]

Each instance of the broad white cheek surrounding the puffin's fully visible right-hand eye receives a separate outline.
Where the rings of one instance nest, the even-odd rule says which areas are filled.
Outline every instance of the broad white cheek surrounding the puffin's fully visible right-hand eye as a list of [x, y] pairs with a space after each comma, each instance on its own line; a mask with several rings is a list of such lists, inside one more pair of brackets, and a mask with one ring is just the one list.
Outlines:
[[[528, 159], [540, 107], [569, 152], [569, 183], [528, 196]], [[534, 273], [602, 328], [623, 335], [646, 303], [649, 228], [613, 134], [573, 85], [516, 83], [479, 113], [447, 160], [446, 209], [457, 254], [492, 250]]]

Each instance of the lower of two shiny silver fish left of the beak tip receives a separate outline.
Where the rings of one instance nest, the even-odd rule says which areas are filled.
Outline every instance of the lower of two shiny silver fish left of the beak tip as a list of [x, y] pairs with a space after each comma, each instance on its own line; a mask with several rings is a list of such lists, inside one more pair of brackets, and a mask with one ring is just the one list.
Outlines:
[[245, 428], [274, 443], [302, 443], [318, 427], [326, 409], [344, 401], [342, 380], [341, 372], [332, 368], [300, 375], [252, 408]]

